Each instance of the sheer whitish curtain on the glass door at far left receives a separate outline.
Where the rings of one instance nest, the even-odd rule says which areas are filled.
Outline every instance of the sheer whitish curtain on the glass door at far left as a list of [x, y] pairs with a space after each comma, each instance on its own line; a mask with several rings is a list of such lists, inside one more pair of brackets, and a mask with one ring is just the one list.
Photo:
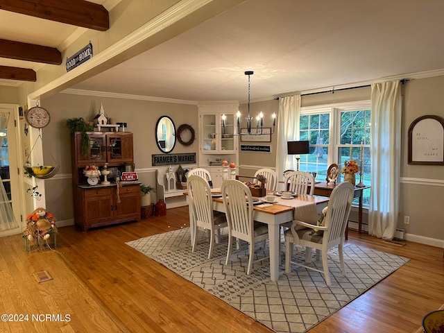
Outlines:
[[[9, 112], [0, 112], [0, 149], [3, 146], [3, 140], [6, 138], [6, 128], [8, 127]], [[7, 148], [6, 148], [7, 149]], [[3, 154], [1, 155], [3, 157]], [[7, 156], [6, 156], [7, 157]], [[18, 228], [19, 225], [14, 219], [12, 205], [6, 194], [3, 181], [0, 177], [0, 231]]]

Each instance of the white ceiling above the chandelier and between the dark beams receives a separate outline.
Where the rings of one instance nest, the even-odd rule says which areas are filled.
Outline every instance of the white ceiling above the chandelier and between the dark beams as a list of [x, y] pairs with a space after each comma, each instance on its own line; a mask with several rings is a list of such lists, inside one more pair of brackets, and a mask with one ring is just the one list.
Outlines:
[[[442, 0], [248, 0], [72, 88], [245, 101], [244, 71], [253, 70], [254, 101], [408, 77], [444, 69], [443, 12]], [[76, 29], [0, 10], [0, 38], [58, 47]], [[0, 58], [0, 65], [15, 61]]]

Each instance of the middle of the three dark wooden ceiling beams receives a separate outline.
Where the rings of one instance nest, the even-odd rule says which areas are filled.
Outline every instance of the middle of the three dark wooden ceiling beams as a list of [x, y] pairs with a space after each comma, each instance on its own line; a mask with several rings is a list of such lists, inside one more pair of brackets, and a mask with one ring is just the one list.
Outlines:
[[62, 53], [56, 48], [2, 39], [0, 39], [0, 58], [43, 62], [51, 65], [62, 63]]

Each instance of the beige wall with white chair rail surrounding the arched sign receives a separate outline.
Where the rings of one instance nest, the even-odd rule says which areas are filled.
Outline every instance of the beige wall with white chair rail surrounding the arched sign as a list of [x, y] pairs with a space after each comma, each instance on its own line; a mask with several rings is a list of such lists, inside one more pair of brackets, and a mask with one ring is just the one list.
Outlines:
[[[416, 118], [434, 114], [444, 118], [444, 76], [411, 80], [404, 85], [401, 142], [400, 216], [398, 227], [412, 240], [443, 246], [443, 213], [439, 210], [444, 198], [444, 166], [407, 163], [408, 130]], [[404, 215], [410, 223], [404, 224]]]

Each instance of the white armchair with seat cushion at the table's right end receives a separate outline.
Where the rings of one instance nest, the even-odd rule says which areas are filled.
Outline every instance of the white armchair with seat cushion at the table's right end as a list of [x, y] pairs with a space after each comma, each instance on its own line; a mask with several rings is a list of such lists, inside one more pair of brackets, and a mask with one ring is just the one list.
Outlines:
[[[355, 187], [350, 182], [341, 182], [332, 191], [327, 205], [327, 214], [323, 225], [312, 225], [310, 223], [295, 220], [289, 230], [284, 232], [285, 236], [285, 273], [290, 273], [291, 264], [296, 264], [325, 275], [325, 282], [331, 286], [330, 272], [328, 270], [327, 250], [333, 246], [339, 246], [339, 262], [342, 274], [345, 275], [345, 264], [343, 255], [343, 243], [345, 228], [348, 224], [348, 216], [352, 207]], [[302, 229], [298, 229], [302, 227]], [[305, 228], [303, 228], [305, 227]], [[293, 244], [305, 246], [305, 264], [292, 262]], [[311, 262], [311, 249], [321, 251], [323, 269], [307, 266]]]

